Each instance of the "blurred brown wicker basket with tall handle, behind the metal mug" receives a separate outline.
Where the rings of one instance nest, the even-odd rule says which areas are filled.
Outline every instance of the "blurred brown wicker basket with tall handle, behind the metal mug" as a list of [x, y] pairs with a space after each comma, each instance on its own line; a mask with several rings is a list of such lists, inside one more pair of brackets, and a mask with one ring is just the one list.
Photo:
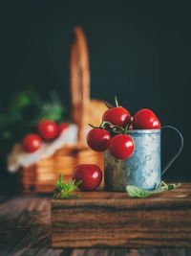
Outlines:
[[80, 28], [74, 28], [70, 68], [72, 119], [78, 127], [77, 143], [66, 145], [52, 157], [22, 168], [21, 182], [25, 192], [51, 192], [58, 174], [63, 173], [68, 179], [78, 164], [94, 163], [103, 170], [102, 153], [92, 151], [85, 142], [87, 124], [99, 125], [106, 106], [100, 101], [90, 100], [89, 56], [86, 38]]

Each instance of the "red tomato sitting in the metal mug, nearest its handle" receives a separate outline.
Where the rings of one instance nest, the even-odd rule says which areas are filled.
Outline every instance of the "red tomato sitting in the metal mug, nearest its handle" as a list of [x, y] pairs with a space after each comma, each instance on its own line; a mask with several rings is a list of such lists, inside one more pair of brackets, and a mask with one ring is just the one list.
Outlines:
[[161, 128], [158, 117], [150, 109], [140, 109], [133, 119], [133, 127], [137, 129], [158, 129]]

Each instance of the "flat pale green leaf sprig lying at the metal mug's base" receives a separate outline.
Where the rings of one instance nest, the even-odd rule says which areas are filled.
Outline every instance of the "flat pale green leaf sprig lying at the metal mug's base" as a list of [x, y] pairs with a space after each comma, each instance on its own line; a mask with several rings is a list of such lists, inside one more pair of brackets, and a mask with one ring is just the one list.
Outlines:
[[177, 184], [166, 184], [164, 181], [161, 181], [159, 185], [154, 190], [146, 190], [138, 188], [137, 186], [128, 185], [126, 186], [127, 195], [130, 198], [147, 198], [154, 194], [161, 193], [164, 191], [171, 191], [180, 187], [180, 183]]

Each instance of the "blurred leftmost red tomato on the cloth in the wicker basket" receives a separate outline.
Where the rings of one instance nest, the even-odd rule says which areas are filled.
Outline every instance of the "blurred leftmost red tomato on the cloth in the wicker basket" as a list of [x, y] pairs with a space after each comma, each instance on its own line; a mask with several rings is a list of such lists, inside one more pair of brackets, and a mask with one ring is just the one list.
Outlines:
[[23, 138], [22, 148], [25, 152], [34, 152], [40, 149], [42, 139], [34, 133], [28, 134]]

